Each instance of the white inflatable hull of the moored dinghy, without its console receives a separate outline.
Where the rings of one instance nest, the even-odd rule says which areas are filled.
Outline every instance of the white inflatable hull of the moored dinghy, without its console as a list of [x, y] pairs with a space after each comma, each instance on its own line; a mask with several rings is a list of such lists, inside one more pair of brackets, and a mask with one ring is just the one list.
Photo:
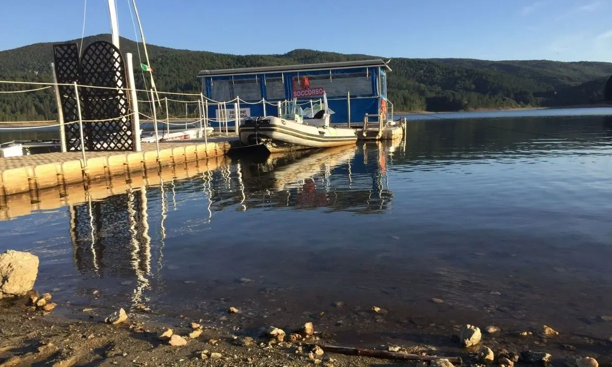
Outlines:
[[278, 117], [247, 120], [240, 126], [239, 132], [243, 145], [263, 144], [272, 153], [337, 147], [357, 141], [352, 128], [319, 127]]

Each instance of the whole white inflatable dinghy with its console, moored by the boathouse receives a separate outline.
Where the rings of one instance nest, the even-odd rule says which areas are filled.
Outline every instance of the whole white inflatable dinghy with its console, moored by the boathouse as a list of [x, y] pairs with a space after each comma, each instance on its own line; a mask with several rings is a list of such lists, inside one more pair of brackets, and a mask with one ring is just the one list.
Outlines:
[[325, 109], [310, 119], [304, 119], [302, 108], [293, 100], [282, 106], [280, 117], [244, 120], [238, 130], [242, 145], [263, 145], [269, 152], [275, 153], [354, 144], [357, 141], [355, 130], [329, 125], [327, 98], [325, 100]]

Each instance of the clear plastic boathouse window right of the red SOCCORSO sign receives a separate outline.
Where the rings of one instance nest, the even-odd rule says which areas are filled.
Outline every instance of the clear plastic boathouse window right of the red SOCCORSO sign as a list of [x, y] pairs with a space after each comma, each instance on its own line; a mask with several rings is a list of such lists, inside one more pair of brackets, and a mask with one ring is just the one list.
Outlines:
[[[302, 76], [300, 74], [300, 76]], [[304, 75], [305, 76], [305, 75]], [[308, 75], [310, 88], [323, 87], [327, 97], [372, 94], [372, 75], [367, 73], [342, 73], [329, 75]]]

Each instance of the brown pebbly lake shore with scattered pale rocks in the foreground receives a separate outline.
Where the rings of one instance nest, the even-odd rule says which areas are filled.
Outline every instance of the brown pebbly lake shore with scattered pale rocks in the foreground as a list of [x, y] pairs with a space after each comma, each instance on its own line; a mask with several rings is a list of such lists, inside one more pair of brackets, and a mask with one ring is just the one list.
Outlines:
[[[34, 284], [37, 259], [0, 255], [0, 367], [6, 366], [563, 366], [612, 363], [612, 341], [557, 330], [394, 320], [379, 306], [330, 304], [318, 314], [245, 322], [243, 305], [217, 314], [169, 317], [144, 305], [110, 310], [75, 306]], [[92, 296], [103, 297], [97, 290]], [[432, 308], [445, 305], [430, 300]], [[561, 311], [561, 310], [560, 310]], [[612, 317], [599, 322], [612, 325]], [[393, 328], [388, 324], [393, 323]], [[343, 327], [343, 324], [351, 325]], [[378, 332], [376, 340], [365, 338]], [[562, 326], [562, 325], [561, 325]], [[394, 330], [391, 332], [390, 330]]]

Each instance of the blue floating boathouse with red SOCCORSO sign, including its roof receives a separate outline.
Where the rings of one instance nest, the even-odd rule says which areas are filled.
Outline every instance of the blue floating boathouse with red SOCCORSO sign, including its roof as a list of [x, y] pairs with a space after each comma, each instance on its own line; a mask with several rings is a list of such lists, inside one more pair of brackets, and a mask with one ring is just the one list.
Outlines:
[[[392, 104], [387, 100], [390, 71], [383, 60], [371, 59], [201, 70], [198, 78], [202, 93], [211, 100], [228, 102], [238, 97], [245, 101], [240, 105], [242, 118], [277, 116], [278, 102], [297, 98], [298, 103], [316, 103], [326, 94], [329, 108], [334, 111], [332, 123], [346, 124], [361, 123], [366, 114], [392, 119]], [[221, 111], [217, 110], [217, 104], [209, 105], [208, 116], [220, 117]]]

